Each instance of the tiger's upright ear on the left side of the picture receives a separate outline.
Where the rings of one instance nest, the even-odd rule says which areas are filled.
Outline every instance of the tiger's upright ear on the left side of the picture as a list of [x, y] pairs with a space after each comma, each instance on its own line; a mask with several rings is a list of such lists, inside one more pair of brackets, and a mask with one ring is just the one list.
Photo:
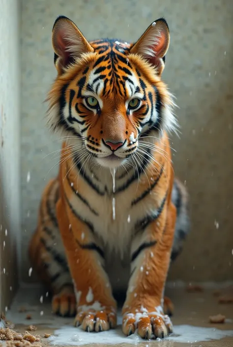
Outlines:
[[82, 32], [65, 16], [58, 16], [54, 23], [52, 44], [58, 73], [62, 73], [63, 68], [73, 63], [82, 53], [94, 51]]

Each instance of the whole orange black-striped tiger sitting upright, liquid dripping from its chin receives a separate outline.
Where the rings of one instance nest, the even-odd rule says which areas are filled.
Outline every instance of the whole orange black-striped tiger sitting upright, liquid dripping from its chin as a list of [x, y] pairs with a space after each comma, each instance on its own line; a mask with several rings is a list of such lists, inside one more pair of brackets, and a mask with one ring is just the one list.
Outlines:
[[189, 216], [167, 136], [176, 127], [161, 80], [169, 42], [163, 18], [135, 43], [88, 42], [64, 16], [54, 24], [48, 123], [64, 141], [29, 255], [53, 292], [53, 312], [76, 314], [86, 331], [116, 326], [113, 293], [125, 291], [125, 335], [172, 332], [164, 286]]

